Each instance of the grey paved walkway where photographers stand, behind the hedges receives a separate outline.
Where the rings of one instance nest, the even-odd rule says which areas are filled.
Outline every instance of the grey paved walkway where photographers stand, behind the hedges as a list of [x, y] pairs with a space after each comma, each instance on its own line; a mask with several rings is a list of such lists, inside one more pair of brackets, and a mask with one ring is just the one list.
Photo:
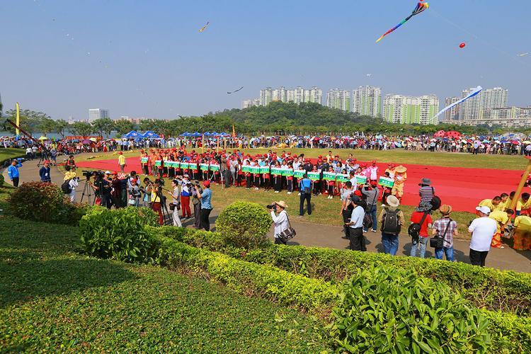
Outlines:
[[[39, 181], [39, 173], [37, 167], [37, 160], [26, 161], [20, 169], [21, 183], [29, 181]], [[81, 174], [81, 169], [78, 170]], [[3, 171], [6, 181], [8, 181], [7, 172]], [[52, 182], [61, 185], [63, 181], [63, 174], [57, 168], [52, 167], [51, 171]], [[82, 177], [82, 176], [81, 176]], [[82, 177], [83, 178], [83, 177]], [[84, 181], [80, 181], [79, 187], [76, 190], [76, 201], [81, 201], [81, 194], [84, 188]], [[84, 198], [86, 202], [86, 197]], [[210, 222], [214, 224], [219, 210], [216, 208], [212, 210], [210, 215]], [[329, 225], [313, 224], [302, 222], [299, 216], [292, 216], [292, 227], [297, 230], [297, 237], [290, 242], [290, 244], [301, 244], [304, 246], [319, 246], [328, 247], [331, 249], [348, 249], [348, 240], [343, 239], [342, 227], [334, 227]], [[188, 219], [183, 222], [184, 226], [191, 226], [193, 219]], [[269, 236], [272, 237], [273, 229], [271, 229]], [[382, 252], [383, 246], [381, 242], [381, 235], [379, 233], [368, 232], [367, 236], [367, 251]], [[409, 256], [411, 249], [411, 239], [408, 236], [400, 237], [399, 255]], [[457, 261], [469, 263], [469, 241], [455, 240], [455, 258]], [[433, 249], [426, 249], [426, 257], [433, 257]], [[489, 256], [486, 259], [486, 265], [492, 268], [503, 270], [516, 270], [519, 272], [531, 273], [531, 251], [515, 251], [506, 246], [505, 249], [491, 249]]]

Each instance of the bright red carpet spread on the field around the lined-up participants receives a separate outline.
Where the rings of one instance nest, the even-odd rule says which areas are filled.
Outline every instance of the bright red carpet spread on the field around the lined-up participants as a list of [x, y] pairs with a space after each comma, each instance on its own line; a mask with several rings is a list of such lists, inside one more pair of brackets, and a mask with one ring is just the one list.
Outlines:
[[[315, 161], [314, 161], [315, 162]], [[100, 170], [118, 169], [118, 158], [112, 160], [84, 161], [77, 163], [79, 167], [88, 167]], [[387, 169], [387, 164], [377, 164], [379, 172]], [[510, 193], [515, 190], [520, 182], [522, 171], [496, 170], [496, 169], [466, 169], [462, 167], [440, 167], [408, 165], [408, 180], [404, 188], [405, 205], [417, 205], [418, 183], [423, 177], [431, 179], [435, 187], [435, 194], [440, 197], [443, 204], [452, 205], [456, 211], [475, 212], [474, 208], [479, 201], [493, 198], [501, 193]], [[127, 159], [125, 171], [140, 169], [139, 157]], [[527, 189], [527, 188], [526, 188]]]

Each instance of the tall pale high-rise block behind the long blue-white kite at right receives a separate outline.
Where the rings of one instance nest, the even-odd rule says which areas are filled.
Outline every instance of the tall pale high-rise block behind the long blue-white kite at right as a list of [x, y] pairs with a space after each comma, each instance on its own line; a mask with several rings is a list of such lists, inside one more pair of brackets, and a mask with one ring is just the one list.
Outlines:
[[[475, 88], [463, 90], [461, 98], [467, 97], [474, 90]], [[474, 120], [481, 120], [483, 118], [484, 110], [507, 107], [507, 101], [508, 90], [502, 89], [501, 87], [485, 89], [478, 95], [461, 103], [459, 120], [462, 120], [464, 124], [473, 124]]]

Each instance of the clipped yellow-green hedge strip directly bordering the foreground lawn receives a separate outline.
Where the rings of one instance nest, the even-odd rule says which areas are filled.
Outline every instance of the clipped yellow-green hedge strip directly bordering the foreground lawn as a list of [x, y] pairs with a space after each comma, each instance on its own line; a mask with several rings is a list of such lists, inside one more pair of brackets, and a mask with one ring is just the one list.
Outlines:
[[159, 242], [159, 264], [200, 273], [236, 292], [309, 310], [329, 309], [336, 302], [337, 288], [329, 282], [240, 261], [163, 236], [155, 239]]

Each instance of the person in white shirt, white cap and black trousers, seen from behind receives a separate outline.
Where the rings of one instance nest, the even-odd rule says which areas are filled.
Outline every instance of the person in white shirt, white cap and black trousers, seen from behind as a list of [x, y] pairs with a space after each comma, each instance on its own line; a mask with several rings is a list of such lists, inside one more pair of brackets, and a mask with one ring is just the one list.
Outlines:
[[491, 241], [498, 226], [496, 220], [491, 219], [489, 207], [476, 207], [478, 218], [474, 219], [468, 227], [468, 232], [472, 234], [470, 240], [470, 263], [472, 265], [485, 266], [487, 253], [491, 249]]

